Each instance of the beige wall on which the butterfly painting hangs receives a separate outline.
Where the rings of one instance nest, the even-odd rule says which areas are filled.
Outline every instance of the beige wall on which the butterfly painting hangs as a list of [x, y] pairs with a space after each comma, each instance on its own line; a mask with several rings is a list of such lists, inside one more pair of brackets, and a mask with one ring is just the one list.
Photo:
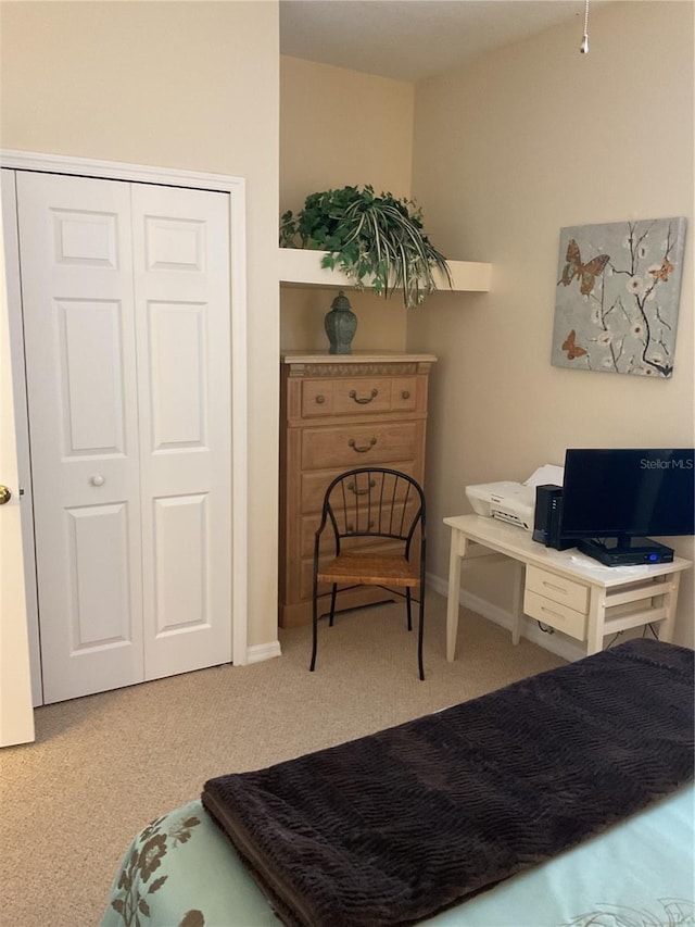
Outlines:
[[[464, 487], [525, 479], [566, 447], [693, 447], [693, 4], [620, 2], [418, 85], [415, 196], [452, 258], [491, 261], [485, 296], [437, 295], [408, 347], [438, 354], [429, 427], [430, 569], [446, 576], [441, 518]], [[559, 229], [688, 221], [673, 376], [549, 364]], [[673, 546], [693, 556], [693, 539]], [[477, 577], [480, 594], [507, 584]], [[692, 573], [678, 640], [693, 644]], [[509, 606], [506, 601], [500, 602]]]

